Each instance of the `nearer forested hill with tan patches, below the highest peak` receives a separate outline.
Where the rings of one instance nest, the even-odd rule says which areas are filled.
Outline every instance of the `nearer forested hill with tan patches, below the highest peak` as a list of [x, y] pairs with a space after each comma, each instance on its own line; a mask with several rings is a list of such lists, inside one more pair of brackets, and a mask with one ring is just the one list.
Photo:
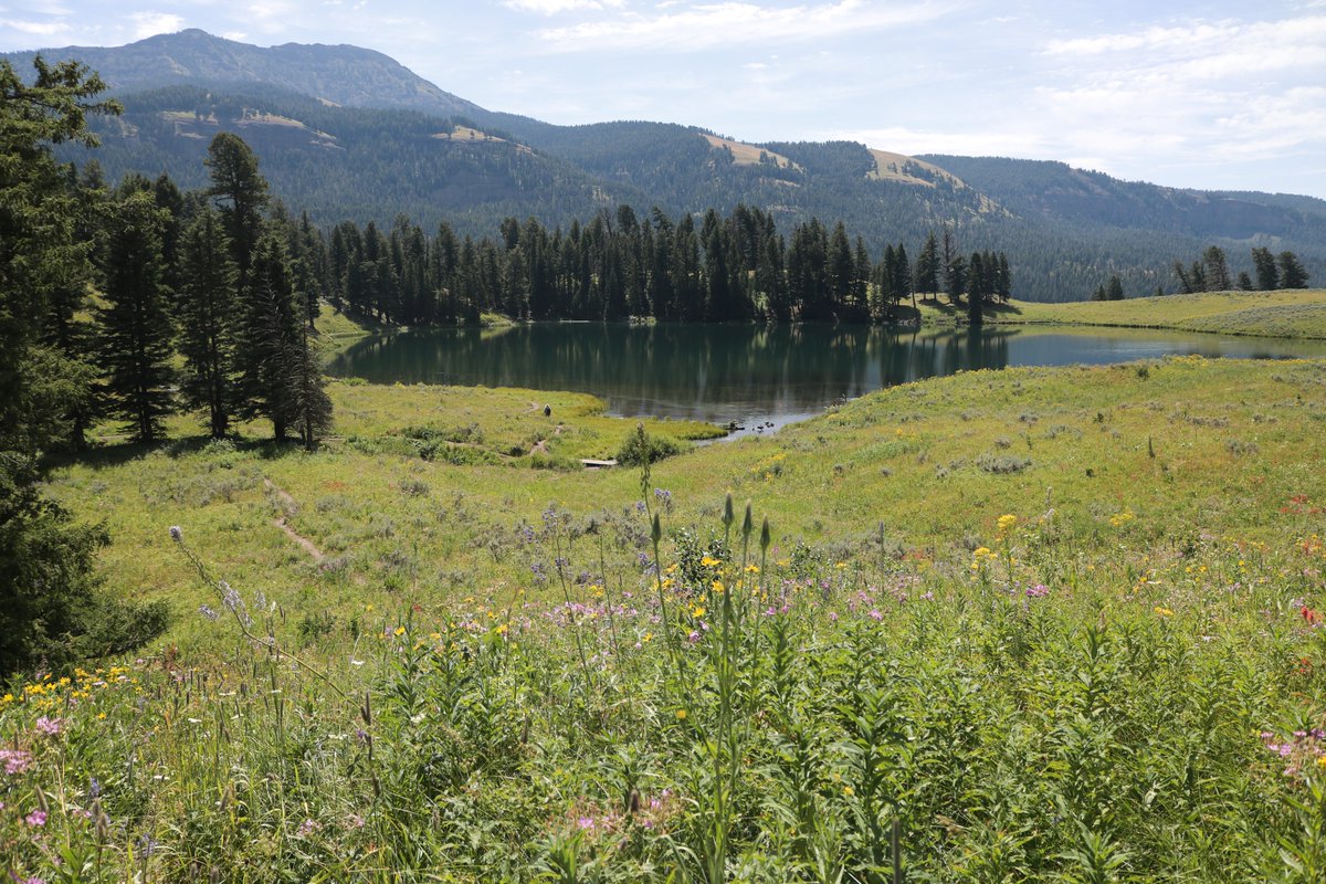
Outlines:
[[390, 224], [404, 213], [481, 235], [509, 215], [587, 217], [640, 199], [524, 144], [430, 114], [248, 87], [251, 94], [172, 86], [123, 95], [122, 117], [94, 121], [101, 147], [66, 146], [61, 155], [95, 158], [111, 180], [130, 171], [168, 172], [182, 187], [199, 188], [207, 184], [203, 160], [212, 138], [233, 131], [257, 152], [276, 195], [320, 224]]

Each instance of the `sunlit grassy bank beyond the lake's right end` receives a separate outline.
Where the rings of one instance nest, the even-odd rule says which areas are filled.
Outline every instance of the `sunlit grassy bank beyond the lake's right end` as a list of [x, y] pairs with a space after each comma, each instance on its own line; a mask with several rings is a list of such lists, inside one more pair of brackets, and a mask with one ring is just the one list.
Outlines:
[[[922, 302], [923, 322], [967, 318], [965, 307]], [[1130, 298], [1033, 304], [1010, 301], [988, 310], [987, 322], [1176, 329], [1268, 338], [1326, 338], [1326, 289], [1205, 292]]]

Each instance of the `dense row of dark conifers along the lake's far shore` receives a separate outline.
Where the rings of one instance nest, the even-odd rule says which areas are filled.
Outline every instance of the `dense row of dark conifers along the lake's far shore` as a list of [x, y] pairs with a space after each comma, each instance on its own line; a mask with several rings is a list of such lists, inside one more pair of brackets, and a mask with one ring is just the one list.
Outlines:
[[379, 322], [430, 326], [475, 322], [483, 313], [524, 319], [678, 322], [888, 322], [915, 297], [944, 293], [1008, 300], [1002, 253], [956, 253], [930, 236], [915, 266], [904, 244], [873, 261], [839, 223], [812, 219], [784, 237], [773, 216], [739, 205], [639, 217], [621, 205], [586, 224], [549, 231], [534, 219], [503, 221], [496, 239], [460, 239], [443, 223], [431, 236], [406, 217], [312, 232], [308, 265], [338, 309]]

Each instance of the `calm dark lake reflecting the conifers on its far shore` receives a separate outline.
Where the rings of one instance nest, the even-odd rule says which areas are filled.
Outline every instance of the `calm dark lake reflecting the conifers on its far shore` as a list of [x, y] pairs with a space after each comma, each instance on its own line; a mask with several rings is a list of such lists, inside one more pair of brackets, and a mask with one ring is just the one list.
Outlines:
[[329, 367], [374, 383], [590, 392], [614, 415], [737, 421], [753, 432], [891, 384], [1005, 366], [1101, 364], [1166, 354], [1326, 358], [1326, 342], [1143, 330], [992, 326], [536, 323], [370, 338]]

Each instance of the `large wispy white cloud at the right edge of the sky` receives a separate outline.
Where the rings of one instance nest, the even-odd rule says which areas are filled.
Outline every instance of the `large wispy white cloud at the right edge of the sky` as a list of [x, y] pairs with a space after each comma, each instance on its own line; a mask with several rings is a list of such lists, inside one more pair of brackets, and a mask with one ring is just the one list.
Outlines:
[[1326, 148], [1326, 16], [1151, 27], [1042, 57], [1033, 125], [1066, 159], [1192, 170]]

